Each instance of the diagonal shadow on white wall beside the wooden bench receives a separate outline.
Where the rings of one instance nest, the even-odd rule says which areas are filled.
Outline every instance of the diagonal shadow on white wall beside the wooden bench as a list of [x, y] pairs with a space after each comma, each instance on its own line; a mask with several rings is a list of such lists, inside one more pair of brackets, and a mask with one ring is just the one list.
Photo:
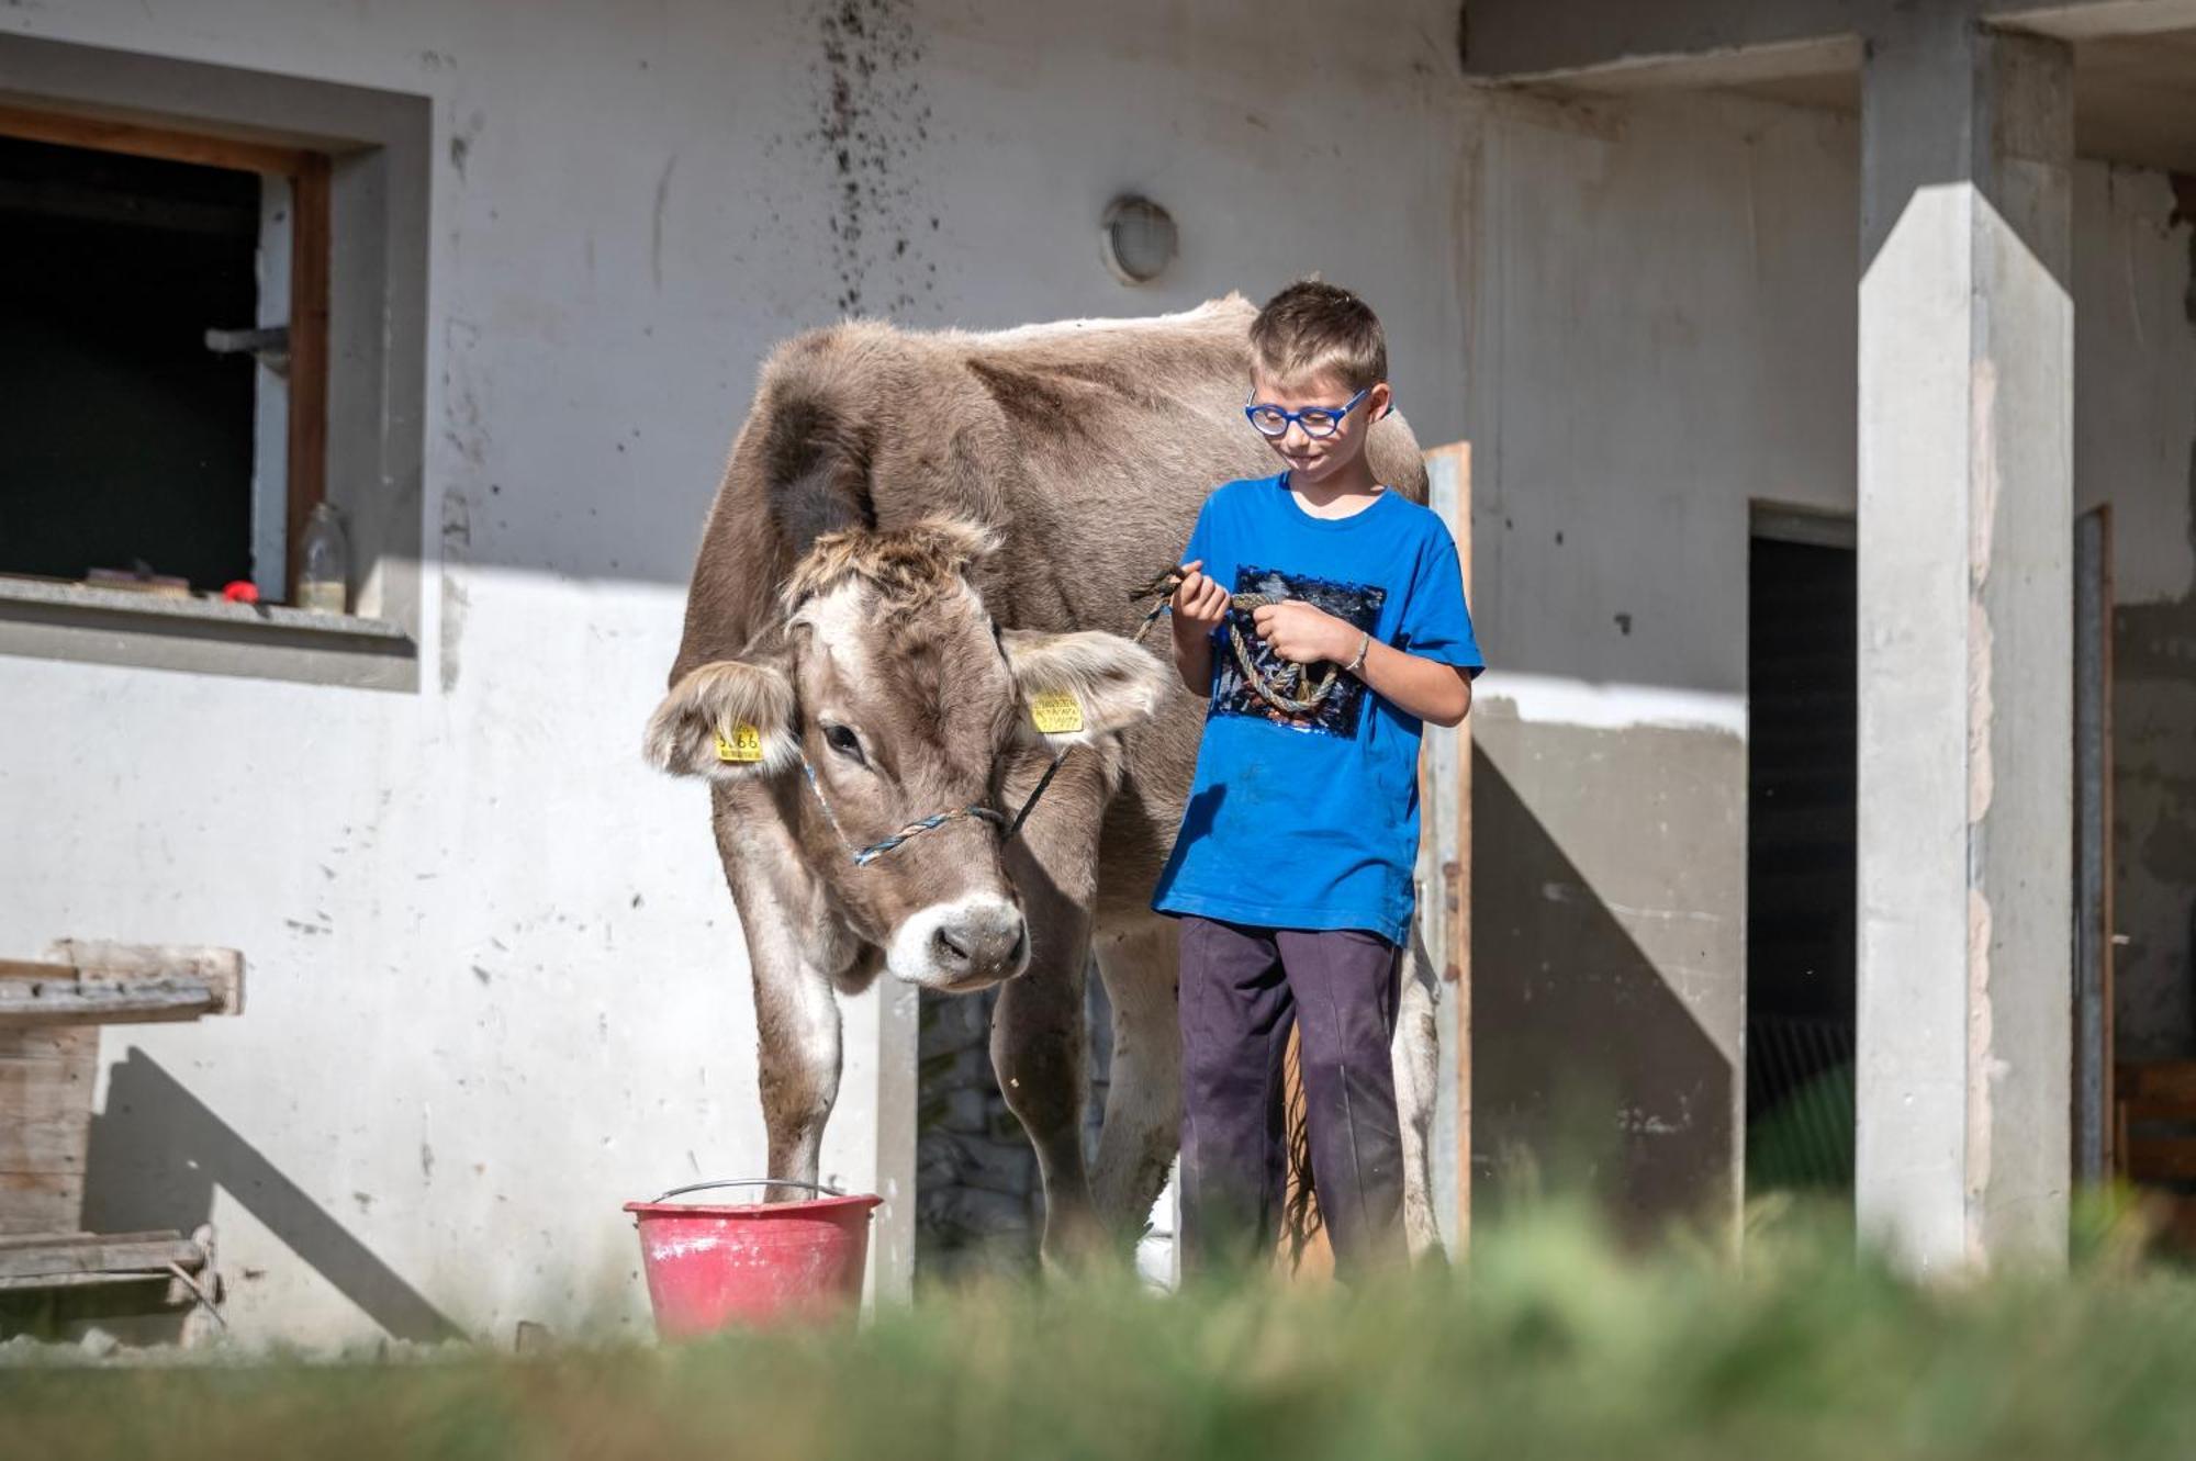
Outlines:
[[114, 1066], [105, 1112], [92, 1117], [86, 1226], [101, 1233], [189, 1233], [211, 1220], [215, 1185], [395, 1338], [463, 1338], [455, 1323], [160, 1062], [132, 1049]]

